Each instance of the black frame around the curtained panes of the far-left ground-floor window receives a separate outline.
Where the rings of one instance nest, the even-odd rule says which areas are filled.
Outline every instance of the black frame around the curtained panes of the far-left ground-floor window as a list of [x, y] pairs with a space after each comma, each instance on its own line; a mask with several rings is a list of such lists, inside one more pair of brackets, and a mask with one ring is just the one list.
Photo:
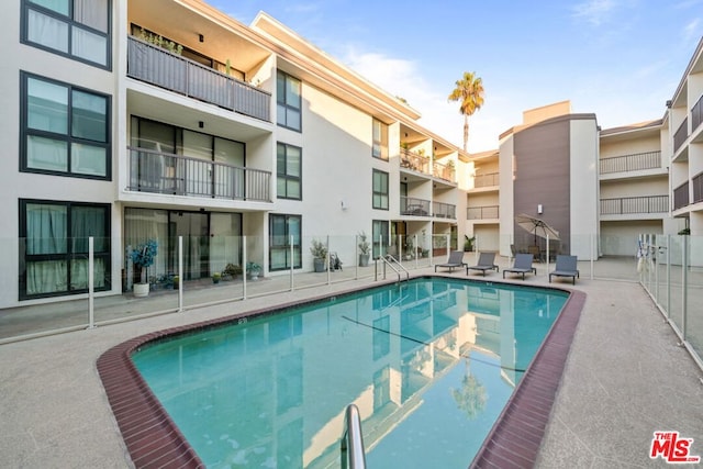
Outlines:
[[[26, 254], [26, 236], [27, 236], [27, 216], [26, 209], [30, 204], [51, 204], [56, 206], [65, 206], [67, 209], [66, 213], [66, 252], [65, 253], [55, 253], [55, 254]], [[20, 226], [19, 226], [19, 272], [20, 272], [20, 281], [18, 289], [19, 300], [33, 300], [38, 298], [54, 298], [54, 297], [67, 297], [74, 294], [87, 293], [88, 288], [85, 289], [76, 289], [71, 290], [71, 260], [75, 259], [87, 259], [88, 252], [74, 252], [74, 243], [70, 241], [74, 238], [71, 230], [71, 217], [72, 217], [72, 209], [74, 208], [99, 208], [104, 211], [104, 248], [100, 252], [93, 253], [94, 259], [102, 259], [104, 266], [104, 286], [96, 287], [96, 291], [110, 291], [112, 289], [112, 239], [111, 239], [111, 225], [112, 225], [112, 208], [109, 203], [92, 203], [92, 202], [71, 202], [71, 201], [57, 201], [57, 200], [44, 200], [44, 199], [20, 199], [19, 200], [19, 214], [20, 214]], [[27, 294], [27, 271], [26, 266], [29, 263], [33, 261], [43, 261], [43, 260], [65, 260], [67, 263], [66, 270], [66, 284], [67, 289], [62, 291], [53, 291], [46, 293], [36, 293], [36, 294]]]

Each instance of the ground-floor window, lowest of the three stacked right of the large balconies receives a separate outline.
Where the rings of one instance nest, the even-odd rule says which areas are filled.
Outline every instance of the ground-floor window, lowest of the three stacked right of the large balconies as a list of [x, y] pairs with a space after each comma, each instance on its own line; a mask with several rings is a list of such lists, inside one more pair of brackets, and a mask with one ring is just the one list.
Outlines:
[[269, 271], [286, 270], [291, 266], [298, 269], [302, 267], [301, 225], [302, 216], [300, 215], [271, 214], [269, 216]]

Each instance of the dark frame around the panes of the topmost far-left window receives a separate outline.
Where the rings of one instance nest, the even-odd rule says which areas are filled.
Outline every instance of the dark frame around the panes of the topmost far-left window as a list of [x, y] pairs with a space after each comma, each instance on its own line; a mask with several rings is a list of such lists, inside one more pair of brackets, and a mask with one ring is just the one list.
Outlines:
[[[42, 51], [46, 51], [48, 53], [52, 54], [56, 54], [59, 55], [62, 57], [66, 57], [66, 58], [70, 58], [71, 60], [76, 60], [76, 62], [80, 62], [82, 64], [87, 64], [93, 67], [98, 67], [98, 68], [102, 68], [104, 70], [112, 70], [112, 1], [113, 0], [107, 0], [108, 1], [108, 31], [103, 32], [100, 30], [96, 30], [93, 27], [90, 27], [87, 24], [83, 24], [79, 21], [74, 20], [74, 2], [70, 1], [69, 3], [69, 12], [68, 15], [63, 15], [52, 9], [48, 9], [46, 7], [42, 7], [41, 4], [36, 4], [34, 2], [32, 2], [31, 0], [22, 0], [22, 19], [21, 19], [21, 26], [20, 26], [20, 42], [22, 44], [26, 44], [31, 47], [36, 47], [40, 48]], [[58, 51], [56, 48], [52, 48], [48, 47], [44, 44], [41, 43], [35, 43], [30, 41], [29, 38], [29, 18], [30, 18], [30, 10], [34, 10], [41, 14], [51, 16], [57, 21], [60, 21], [63, 23], [66, 23], [68, 25], [68, 52], [63, 52], [63, 51]], [[92, 60], [88, 60], [79, 55], [75, 55], [72, 54], [71, 51], [71, 41], [72, 41], [72, 29], [74, 27], [78, 27], [80, 30], [85, 30], [88, 31], [92, 34], [97, 34], [100, 36], [103, 36], [105, 38], [105, 63], [104, 64], [99, 64], [97, 62], [92, 62]]]

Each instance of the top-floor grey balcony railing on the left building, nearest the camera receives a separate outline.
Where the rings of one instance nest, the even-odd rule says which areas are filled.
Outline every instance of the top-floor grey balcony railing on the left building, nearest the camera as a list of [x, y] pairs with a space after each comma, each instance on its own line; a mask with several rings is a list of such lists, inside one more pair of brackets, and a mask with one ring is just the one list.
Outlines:
[[169, 51], [129, 37], [127, 76], [270, 122], [271, 94]]

